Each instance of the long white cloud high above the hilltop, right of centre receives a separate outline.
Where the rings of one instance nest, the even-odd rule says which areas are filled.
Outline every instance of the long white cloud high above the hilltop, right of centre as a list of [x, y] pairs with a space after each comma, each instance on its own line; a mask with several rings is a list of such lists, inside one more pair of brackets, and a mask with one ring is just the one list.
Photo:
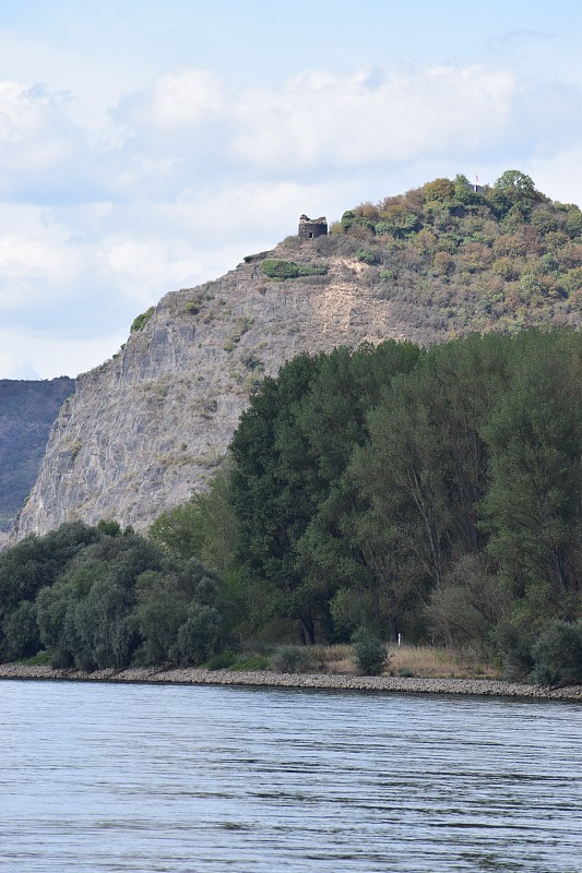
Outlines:
[[307, 73], [234, 108], [234, 157], [276, 169], [414, 160], [495, 142], [515, 85], [484, 68]]

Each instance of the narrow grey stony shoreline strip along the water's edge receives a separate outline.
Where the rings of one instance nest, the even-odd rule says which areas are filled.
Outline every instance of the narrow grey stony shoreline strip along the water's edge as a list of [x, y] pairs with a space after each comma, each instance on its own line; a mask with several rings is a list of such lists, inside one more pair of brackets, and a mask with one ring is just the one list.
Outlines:
[[488, 697], [533, 697], [580, 701], [582, 685], [546, 689], [491, 679], [404, 679], [336, 673], [273, 673], [269, 671], [201, 670], [194, 667], [131, 667], [123, 670], [56, 670], [51, 667], [0, 665], [0, 679], [59, 680], [69, 682], [147, 682], [186, 685], [250, 685], [347, 691], [406, 692], [416, 694], [471, 694]]

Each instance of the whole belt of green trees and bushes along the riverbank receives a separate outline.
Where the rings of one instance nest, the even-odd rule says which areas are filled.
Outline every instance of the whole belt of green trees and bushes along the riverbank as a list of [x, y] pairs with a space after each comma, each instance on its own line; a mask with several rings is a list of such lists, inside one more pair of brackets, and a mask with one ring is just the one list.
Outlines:
[[0, 627], [4, 660], [87, 670], [364, 633], [582, 681], [581, 334], [298, 356], [147, 536], [71, 522], [0, 554]]

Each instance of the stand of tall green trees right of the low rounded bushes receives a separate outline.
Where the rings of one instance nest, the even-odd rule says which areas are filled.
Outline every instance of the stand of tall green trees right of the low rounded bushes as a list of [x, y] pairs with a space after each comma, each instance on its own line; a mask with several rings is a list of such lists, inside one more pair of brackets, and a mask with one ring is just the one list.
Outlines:
[[581, 458], [579, 333], [300, 355], [251, 398], [210, 492], [151, 536], [217, 569], [248, 635], [366, 627], [518, 678], [582, 618]]

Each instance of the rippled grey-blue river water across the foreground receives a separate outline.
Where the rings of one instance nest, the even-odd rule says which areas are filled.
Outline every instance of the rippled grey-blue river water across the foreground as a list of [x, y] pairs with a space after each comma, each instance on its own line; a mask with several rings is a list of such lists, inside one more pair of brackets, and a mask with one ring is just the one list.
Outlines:
[[582, 870], [582, 707], [0, 682], [0, 870]]

